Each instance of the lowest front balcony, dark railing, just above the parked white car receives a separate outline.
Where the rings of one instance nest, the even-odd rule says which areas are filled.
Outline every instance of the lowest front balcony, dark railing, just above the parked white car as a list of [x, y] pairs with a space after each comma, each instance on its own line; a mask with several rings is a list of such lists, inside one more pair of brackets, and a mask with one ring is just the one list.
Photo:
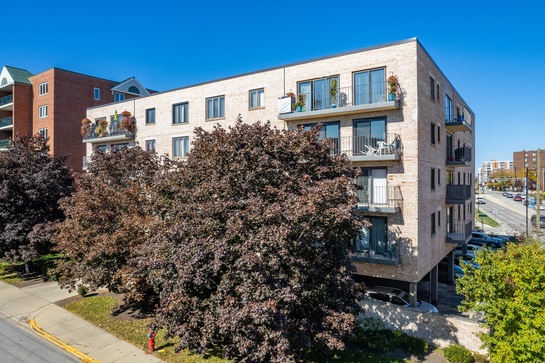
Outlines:
[[354, 246], [352, 261], [396, 266], [401, 263], [399, 242], [385, 238], [358, 237]]

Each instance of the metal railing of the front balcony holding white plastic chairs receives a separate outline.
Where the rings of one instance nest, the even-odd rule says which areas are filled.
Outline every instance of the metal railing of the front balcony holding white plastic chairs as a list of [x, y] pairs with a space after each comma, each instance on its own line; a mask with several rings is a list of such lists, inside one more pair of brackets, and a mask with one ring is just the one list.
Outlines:
[[347, 156], [401, 154], [403, 145], [397, 134], [332, 137], [331, 155]]

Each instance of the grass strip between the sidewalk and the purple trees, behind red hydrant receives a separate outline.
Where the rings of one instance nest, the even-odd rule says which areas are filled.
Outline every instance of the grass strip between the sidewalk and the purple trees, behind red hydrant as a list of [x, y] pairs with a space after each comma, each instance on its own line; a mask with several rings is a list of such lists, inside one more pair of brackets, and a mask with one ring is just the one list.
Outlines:
[[[151, 319], [137, 319], [131, 321], [114, 320], [110, 312], [117, 300], [111, 297], [89, 297], [70, 302], [64, 308], [77, 314], [111, 334], [134, 344], [135, 346], [148, 350], [148, 330], [146, 326]], [[177, 343], [174, 339], [164, 339], [165, 330], [161, 329], [155, 336], [155, 349], [164, 349], [164, 352], [156, 352], [155, 356], [171, 363], [228, 363], [232, 360], [221, 358], [219, 350], [211, 350], [205, 358], [198, 354], [192, 354], [184, 349], [180, 353], [174, 353]], [[311, 350], [307, 354], [305, 363], [405, 363], [402, 359], [391, 358], [384, 355], [363, 353], [357, 350], [343, 350], [332, 355], [324, 355]]]

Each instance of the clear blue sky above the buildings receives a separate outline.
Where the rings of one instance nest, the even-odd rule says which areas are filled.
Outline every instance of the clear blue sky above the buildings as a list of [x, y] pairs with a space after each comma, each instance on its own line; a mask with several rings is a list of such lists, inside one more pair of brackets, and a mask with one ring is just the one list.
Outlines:
[[476, 168], [545, 148], [545, 2], [414, 3], [5, 1], [0, 64], [166, 90], [417, 37], [476, 113]]

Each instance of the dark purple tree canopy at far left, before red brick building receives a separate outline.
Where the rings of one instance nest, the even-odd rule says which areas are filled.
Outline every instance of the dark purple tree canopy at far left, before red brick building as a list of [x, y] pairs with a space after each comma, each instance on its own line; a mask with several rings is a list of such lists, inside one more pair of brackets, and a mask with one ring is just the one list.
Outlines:
[[0, 258], [27, 261], [50, 252], [61, 198], [74, 190], [66, 156], [54, 158], [41, 135], [16, 134], [0, 152]]

